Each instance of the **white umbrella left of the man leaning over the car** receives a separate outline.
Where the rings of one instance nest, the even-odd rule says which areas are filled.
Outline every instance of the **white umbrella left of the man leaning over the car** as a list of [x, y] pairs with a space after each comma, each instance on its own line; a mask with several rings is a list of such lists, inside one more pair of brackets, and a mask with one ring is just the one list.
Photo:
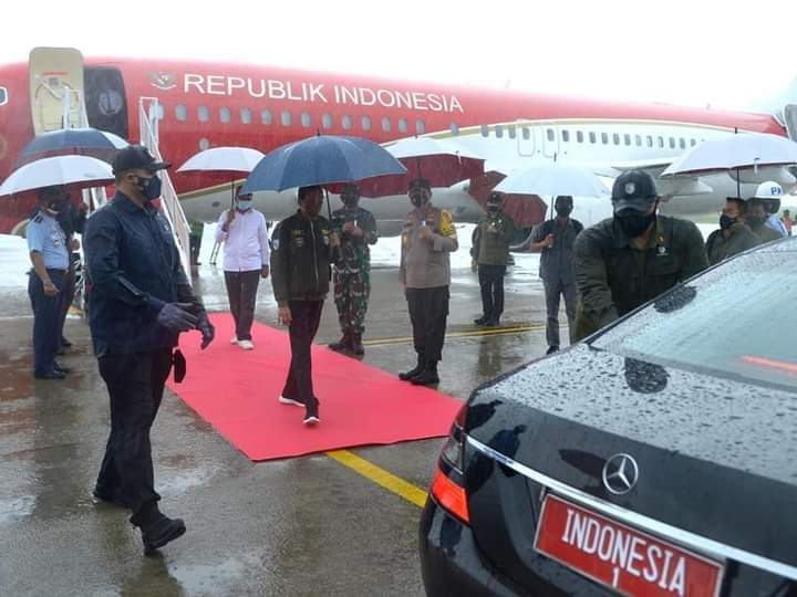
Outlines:
[[561, 164], [540, 164], [509, 174], [495, 190], [515, 195], [603, 197], [609, 195], [600, 178], [589, 170]]

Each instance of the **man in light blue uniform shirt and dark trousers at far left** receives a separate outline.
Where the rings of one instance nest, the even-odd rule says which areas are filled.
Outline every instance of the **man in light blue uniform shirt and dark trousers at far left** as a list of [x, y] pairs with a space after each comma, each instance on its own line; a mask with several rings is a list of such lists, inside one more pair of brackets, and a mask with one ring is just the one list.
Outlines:
[[69, 271], [66, 237], [55, 219], [64, 209], [60, 187], [39, 190], [39, 209], [28, 224], [28, 250], [33, 270], [28, 294], [33, 306], [33, 375], [63, 379], [69, 369], [55, 362], [61, 345], [60, 315]]

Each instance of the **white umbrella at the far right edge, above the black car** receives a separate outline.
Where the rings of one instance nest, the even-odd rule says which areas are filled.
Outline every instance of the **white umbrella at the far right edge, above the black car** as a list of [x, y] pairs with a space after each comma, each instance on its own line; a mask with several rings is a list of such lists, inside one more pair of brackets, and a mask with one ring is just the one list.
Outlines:
[[797, 143], [766, 133], [742, 133], [703, 142], [673, 161], [663, 178], [797, 164]]

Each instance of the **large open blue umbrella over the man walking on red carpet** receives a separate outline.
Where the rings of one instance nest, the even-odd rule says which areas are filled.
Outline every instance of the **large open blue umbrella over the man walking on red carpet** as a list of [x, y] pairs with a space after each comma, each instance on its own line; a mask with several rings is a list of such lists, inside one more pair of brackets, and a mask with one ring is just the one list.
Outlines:
[[267, 154], [247, 178], [242, 192], [281, 191], [405, 171], [401, 161], [373, 142], [317, 135]]

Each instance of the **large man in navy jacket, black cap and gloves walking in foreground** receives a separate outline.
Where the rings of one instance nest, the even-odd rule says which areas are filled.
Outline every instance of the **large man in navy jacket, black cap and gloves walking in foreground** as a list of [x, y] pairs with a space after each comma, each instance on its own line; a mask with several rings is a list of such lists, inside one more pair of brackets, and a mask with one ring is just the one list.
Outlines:
[[158, 509], [149, 429], [180, 332], [214, 328], [192, 291], [166, 218], [152, 205], [161, 197], [157, 170], [168, 168], [146, 148], [131, 145], [113, 161], [116, 195], [86, 223], [83, 243], [92, 282], [89, 325], [100, 375], [111, 397], [111, 436], [94, 496], [133, 511], [149, 553], [185, 533], [180, 519]]

